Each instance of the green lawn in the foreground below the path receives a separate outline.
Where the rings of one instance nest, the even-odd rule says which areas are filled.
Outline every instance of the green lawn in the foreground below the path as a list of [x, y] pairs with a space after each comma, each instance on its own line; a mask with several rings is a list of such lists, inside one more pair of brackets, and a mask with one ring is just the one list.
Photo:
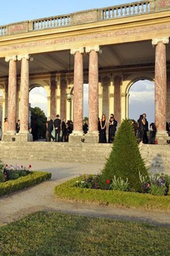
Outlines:
[[0, 228], [0, 254], [169, 256], [170, 228], [39, 212]]

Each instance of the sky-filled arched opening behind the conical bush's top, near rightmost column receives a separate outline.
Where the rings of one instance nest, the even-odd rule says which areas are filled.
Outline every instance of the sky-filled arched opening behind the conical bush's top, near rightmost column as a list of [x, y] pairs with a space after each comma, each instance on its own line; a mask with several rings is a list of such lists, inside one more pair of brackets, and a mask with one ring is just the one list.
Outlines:
[[149, 123], [155, 122], [155, 84], [149, 79], [138, 79], [129, 89], [129, 118], [138, 120], [147, 114]]

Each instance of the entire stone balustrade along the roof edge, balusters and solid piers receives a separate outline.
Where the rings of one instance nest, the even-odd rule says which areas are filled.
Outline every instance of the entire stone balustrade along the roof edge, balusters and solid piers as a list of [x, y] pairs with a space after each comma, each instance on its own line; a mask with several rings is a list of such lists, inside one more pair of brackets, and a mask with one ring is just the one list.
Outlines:
[[169, 9], [169, 1], [144, 0], [129, 4], [115, 5], [101, 9], [74, 12], [72, 14], [64, 14], [60, 16], [23, 21], [12, 23], [6, 26], [0, 26], [0, 37], [5, 35], [27, 33], [29, 31], [85, 24], [108, 19], [132, 17], [135, 15], [154, 13], [161, 10], [167, 11]]

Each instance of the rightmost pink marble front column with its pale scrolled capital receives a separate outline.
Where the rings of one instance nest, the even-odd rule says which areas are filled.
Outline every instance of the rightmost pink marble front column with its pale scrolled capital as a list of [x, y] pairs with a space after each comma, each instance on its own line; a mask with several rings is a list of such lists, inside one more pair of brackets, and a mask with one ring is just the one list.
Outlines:
[[158, 132], [166, 131], [166, 44], [168, 37], [154, 38], [155, 45], [155, 123]]

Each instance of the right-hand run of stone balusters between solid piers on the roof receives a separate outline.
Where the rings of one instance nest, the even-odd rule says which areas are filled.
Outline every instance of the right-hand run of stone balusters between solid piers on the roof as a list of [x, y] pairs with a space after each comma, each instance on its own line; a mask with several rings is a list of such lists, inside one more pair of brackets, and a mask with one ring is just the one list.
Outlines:
[[145, 14], [150, 11], [151, 1], [134, 2], [103, 9], [103, 19], [121, 18], [130, 15]]

